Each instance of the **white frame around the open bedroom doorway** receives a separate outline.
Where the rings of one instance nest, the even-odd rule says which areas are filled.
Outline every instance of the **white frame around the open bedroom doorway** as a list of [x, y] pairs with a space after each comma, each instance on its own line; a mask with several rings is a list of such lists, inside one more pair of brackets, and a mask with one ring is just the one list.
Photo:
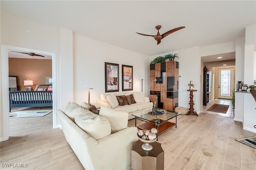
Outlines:
[[[27, 49], [22, 47], [14, 47], [9, 45], [1, 45], [1, 75], [2, 75], [2, 127], [3, 127], [3, 137], [1, 141], [8, 140], [10, 135], [10, 117], [9, 117], [9, 89], [8, 89], [8, 52], [9, 51], [22, 51], [25, 53], [39, 53], [42, 55], [50, 55], [52, 57], [52, 95], [53, 95], [53, 103], [52, 103], [52, 121], [53, 128], [58, 128], [57, 125], [57, 115], [56, 115], [56, 53], [48, 52], [48, 51], [40, 51], [35, 49]], [[7, 83], [6, 83], [7, 82]]]

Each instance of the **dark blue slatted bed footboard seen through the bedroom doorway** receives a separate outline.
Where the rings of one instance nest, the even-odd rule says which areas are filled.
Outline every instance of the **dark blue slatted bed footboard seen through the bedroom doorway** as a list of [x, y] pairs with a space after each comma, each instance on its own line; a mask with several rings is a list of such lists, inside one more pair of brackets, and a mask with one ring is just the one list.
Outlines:
[[52, 107], [52, 91], [9, 91], [9, 111], [13, 107]]

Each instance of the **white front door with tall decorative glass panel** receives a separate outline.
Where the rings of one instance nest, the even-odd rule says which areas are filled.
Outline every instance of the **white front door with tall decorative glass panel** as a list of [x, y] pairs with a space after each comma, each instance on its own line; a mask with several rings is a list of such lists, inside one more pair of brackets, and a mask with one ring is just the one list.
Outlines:
[[234, 68], [218, 69], [218, 98], [231, 99], [234, 89]]

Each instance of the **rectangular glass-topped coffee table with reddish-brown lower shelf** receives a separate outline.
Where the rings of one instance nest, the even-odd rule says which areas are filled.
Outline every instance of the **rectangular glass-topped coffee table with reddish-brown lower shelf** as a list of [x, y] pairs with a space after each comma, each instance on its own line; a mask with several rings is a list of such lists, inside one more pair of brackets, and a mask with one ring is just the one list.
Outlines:
[[[181, 115], [181, 113], [158, 108], [156, 108], [156, 111], [164, 111], [164, 113], [152, 114], [152, 109], [150, 109], [147, 111], [132, 114], [133, 116], [135, 116], [135, 127], [141, 130], [150, 130], [151, 128], [156, 128], [158, 135], [162, 134], [169, 128], [174, 127], [174, 125], [175, 127], [177, 127], [177, 116]], [[175, 123], [168, 122], [172, 118], [176, 119]], [[137, 119], [140, 121], [144, 121], [145, 123], [137, 126]]]

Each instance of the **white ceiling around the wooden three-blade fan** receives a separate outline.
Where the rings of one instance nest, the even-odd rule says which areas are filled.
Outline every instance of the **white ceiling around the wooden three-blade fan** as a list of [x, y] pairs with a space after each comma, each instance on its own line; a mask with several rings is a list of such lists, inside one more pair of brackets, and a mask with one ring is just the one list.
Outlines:
[[[1, 12], [149, 56], [232, 42], [244, 35], [246, 26], [256, 23], [255, 0], [0, 2]], [[186, 28], [166, 36], [158, 45], [153, 37], [135, 33], [156, 35], [157, 25], [162, 26], [160, 34]]]

